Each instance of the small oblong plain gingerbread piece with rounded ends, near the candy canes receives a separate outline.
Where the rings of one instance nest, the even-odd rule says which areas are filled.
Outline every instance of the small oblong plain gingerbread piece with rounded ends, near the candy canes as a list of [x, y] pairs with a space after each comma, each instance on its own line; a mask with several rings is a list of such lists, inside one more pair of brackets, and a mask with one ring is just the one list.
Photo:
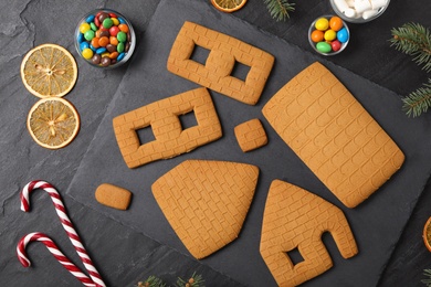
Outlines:
[[102, 183], [95, 192], [98, 203], [117, 209], [127, 210], [132, 200], [132, 192], [109, 183]]

